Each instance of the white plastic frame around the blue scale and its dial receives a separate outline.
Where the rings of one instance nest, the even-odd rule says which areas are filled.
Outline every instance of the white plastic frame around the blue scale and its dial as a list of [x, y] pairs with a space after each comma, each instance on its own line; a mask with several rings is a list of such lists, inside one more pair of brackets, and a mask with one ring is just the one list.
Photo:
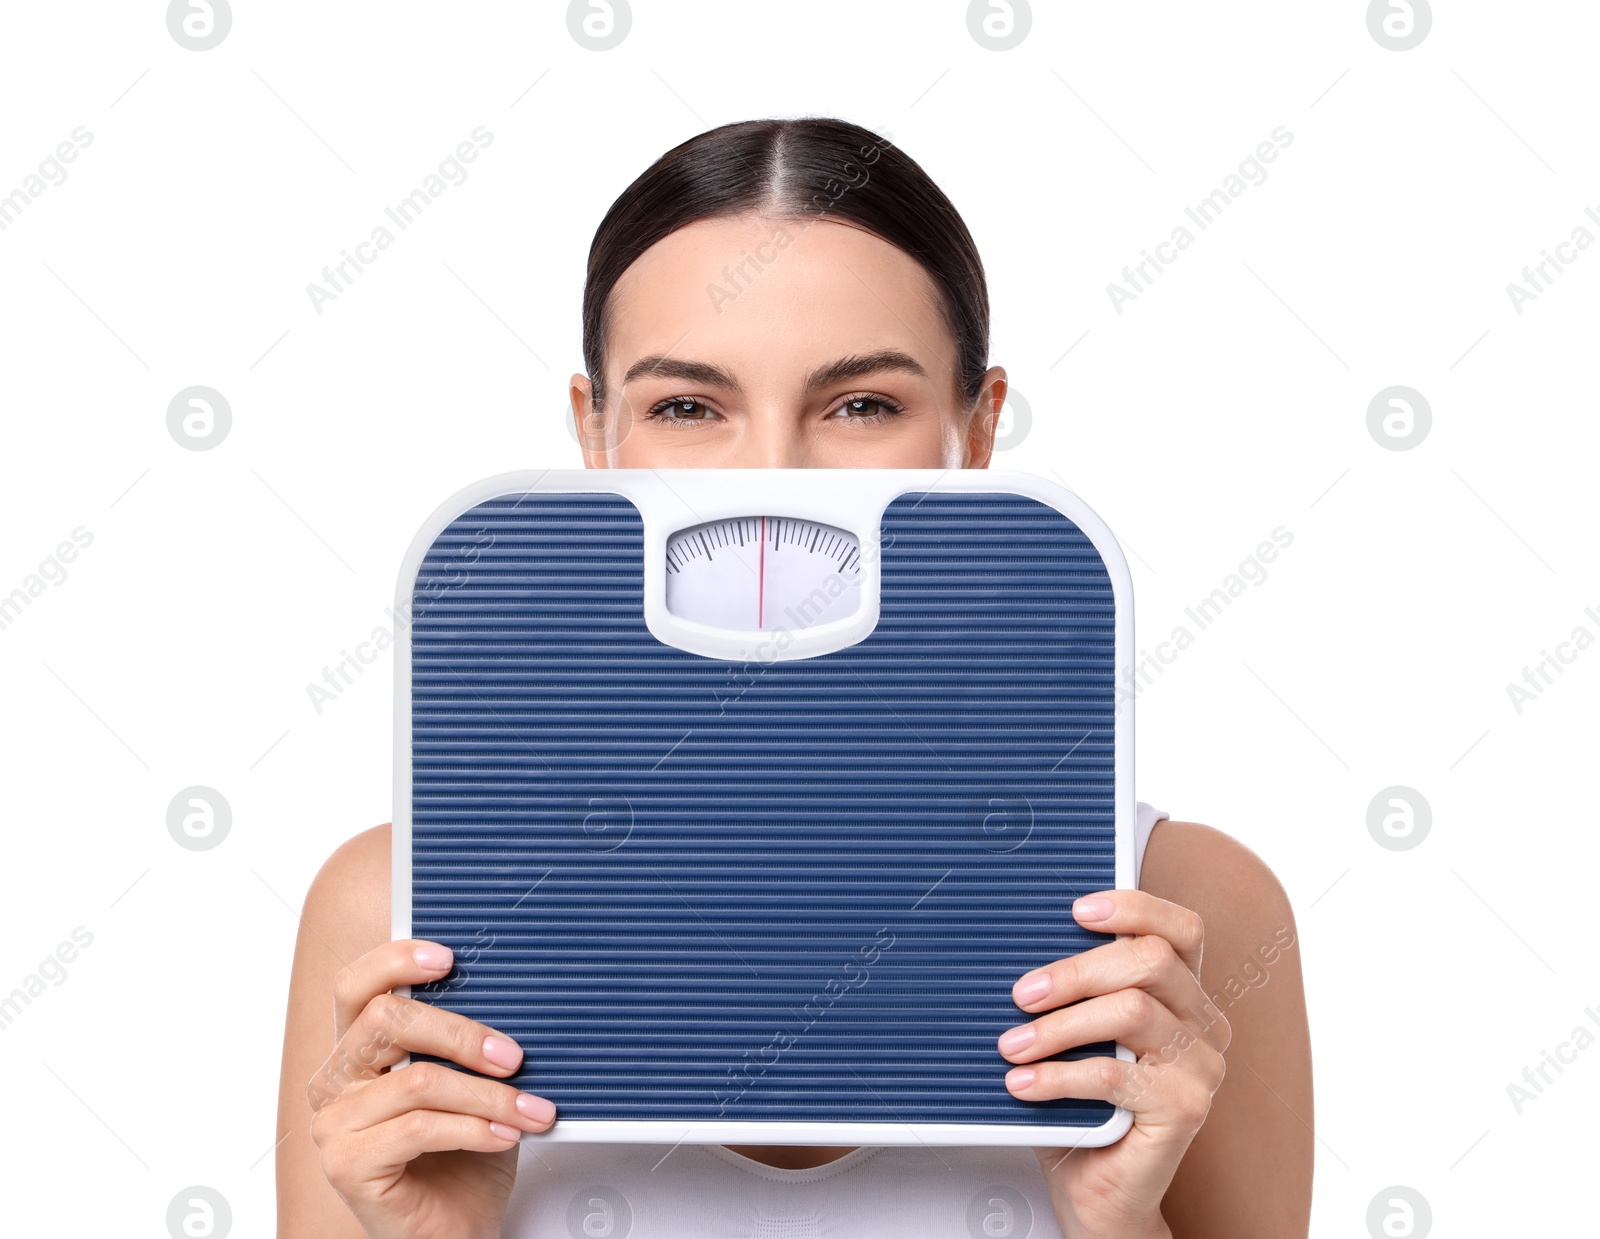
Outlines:
[[[906, 493], [1021, 495], [1056, 509], [1094, 544], [1110, 576], [1115, 605], [1115, 680], [1133, 676], [1133, 581], [1110, 528], [1066, 487], [1032, 474], [1002, 469], [546, 469], [496, 474], [458, 491], [422, 523], [400, 565], [395, 597], [395, 767], [392, 829], [392, 936], [411, 936], [411, 592], [422, 557], [456, 517], [507, 495], [621, 495], [643, 517], [645, 624], [658, 640], [707, 658], [789, 661], [814, 658], [866, 639], [878, 621], [880, 562], [875, 554], [883, 511]], [[861, 543], [861, 605], [843, 618], [789, 632], [778, 648], [774, 631], [709, 628], [667, 611], [666, 543], [674, 533], [728, 517], [795, 517], [834, 525]], [[765, 647], [765, 648], [763, 648]], [[1133, 876], [1133, 695], [1117, 693], [1115, 756], [1117, 887]], [[397, 992], [410, 997], [411, 988]], [[538, 1047], [523, 1047], [538, 1061]], [[1134, 1061], [1128, 1047], [1117, 1058]], [[398, 1066], [408, 1066], [410, 1057]], [[995, 1087], [1003, 1089], [1003, 1058], [995, 1055]], [[672, 1122], [638, 1119], [557, 1119], [539, 1140], [611, 1145], [1029, 1145], [1099, 1146], [1120, 1140], [1133, 1114], [1117, 1106], [1099, 1127], [1026, 1124], [885, 1124], [885, 1122]]]

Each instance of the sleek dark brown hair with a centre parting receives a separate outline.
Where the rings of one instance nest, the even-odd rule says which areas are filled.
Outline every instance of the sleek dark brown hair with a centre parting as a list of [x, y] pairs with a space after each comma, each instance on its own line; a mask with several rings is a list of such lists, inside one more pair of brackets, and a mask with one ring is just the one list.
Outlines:
[[622, 190], [589, 247], [584, 365], [603, 407], [611, 290], [662, 237], [698, 219], [760, 211], [834, 218], [915, 258], [944, 303], [968, 405], [989, 368], [989, 290], [966, 224], [922, 166], [888, 139], [832, 117], [741, 120], [672, 147]]

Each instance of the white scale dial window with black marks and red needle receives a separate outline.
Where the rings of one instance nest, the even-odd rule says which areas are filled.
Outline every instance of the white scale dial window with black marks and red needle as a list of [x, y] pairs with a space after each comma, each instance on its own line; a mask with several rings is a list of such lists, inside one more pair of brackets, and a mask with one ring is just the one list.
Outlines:
[[730, 517], [667, 538], [667, 610], [736, 631], [798, 629], [861, 607], [861, 541], [795, 517]]

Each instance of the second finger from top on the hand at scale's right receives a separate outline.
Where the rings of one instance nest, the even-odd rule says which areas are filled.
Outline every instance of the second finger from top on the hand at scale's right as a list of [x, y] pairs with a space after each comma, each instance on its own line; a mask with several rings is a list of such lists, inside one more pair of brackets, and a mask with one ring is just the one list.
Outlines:
[[1227, 1049], [1230, 1029], [1226, 1016], [1176, 948], [1157, 935], [1118, 938], [1082, 956], [1034, 968], [1018, 978], [1011, 997], [1022, 1010], [1046, 1012], [1133, 986], [1149, 991], [1216, 1049]]

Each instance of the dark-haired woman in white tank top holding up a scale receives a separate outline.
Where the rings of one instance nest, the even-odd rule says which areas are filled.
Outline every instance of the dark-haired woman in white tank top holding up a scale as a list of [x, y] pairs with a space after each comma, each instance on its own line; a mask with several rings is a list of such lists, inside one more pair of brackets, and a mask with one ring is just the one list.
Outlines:
[[[571, 403], [594, 469], [982, 469], [1005, 403], [965, 224], [914, 160], [840, 120], [726, 125], [662, 155], [595, 234], [582, 325]], [[1133, 1111], [1120, 1141], [1070, 1153], [541, 1143], [560, 1122], [544, 1098], [389, 1071], [426, 1052], [504, 1077], [539, 1047], [390, 992], [443, 976], [451, 952], [387, 941], [389, 826], [365, 831], [306, 896], [278, 1234], [1304, 1236], [1294, 919], [1253, 852], [1165, 816], [1139, 805], [1138, 890], [1072, 908], [1130, 936], [1019, 976], [995, 1047], [1018, 1098]], [[1101, 1041], [1139, 1063], [1038, 1061]]]

